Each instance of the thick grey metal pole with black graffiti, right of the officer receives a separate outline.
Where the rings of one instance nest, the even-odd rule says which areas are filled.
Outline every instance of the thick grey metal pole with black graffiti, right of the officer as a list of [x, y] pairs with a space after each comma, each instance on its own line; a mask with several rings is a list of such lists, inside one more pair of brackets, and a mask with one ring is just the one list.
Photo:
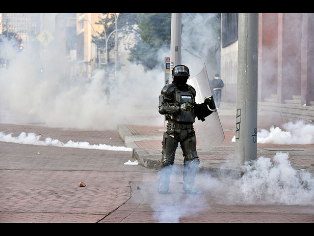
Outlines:
[[239, 13], [235, 155], [257, 159], [258, 13]]

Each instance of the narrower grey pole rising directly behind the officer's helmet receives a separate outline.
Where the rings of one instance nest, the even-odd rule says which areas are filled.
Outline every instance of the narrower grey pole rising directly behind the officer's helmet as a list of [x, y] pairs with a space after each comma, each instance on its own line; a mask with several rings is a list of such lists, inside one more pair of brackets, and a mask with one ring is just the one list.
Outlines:
[[181, 64], [181, 18], [182, 13], [171, 13], [171, 39], [170, 39], [170, 75], [173, 67]]

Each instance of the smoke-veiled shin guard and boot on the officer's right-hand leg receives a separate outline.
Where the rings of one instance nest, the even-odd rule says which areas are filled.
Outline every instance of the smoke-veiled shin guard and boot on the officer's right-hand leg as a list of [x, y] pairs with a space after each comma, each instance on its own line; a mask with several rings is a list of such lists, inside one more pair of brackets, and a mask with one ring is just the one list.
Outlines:
[[194, 181], [196, 177], [196, 173], [198, 171], [198, 166], [200, 164], [200, 160], [198, 157], [192, 160], [186, 160], [184, 158], [184, 166], [183, 166], [183, 190], [187, 194], [196, 194], [198, 189], [194, 186]]

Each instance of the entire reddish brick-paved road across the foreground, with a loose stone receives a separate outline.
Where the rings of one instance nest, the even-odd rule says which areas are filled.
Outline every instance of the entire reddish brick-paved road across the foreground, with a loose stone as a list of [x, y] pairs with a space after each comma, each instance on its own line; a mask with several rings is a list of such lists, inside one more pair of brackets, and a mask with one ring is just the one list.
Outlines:
[[[0, 131], [124, 146], [116, 131], [12, 124]], [[0, 222], [314, 222], [313, 202], [248, 203], [235, 181], [208, 174], [197, 177], [198, 195], [183, 193], [177, 173], [171, 193], [160, 196], [157, 170], [124, 165], [131, 153], [0, 142]]]

